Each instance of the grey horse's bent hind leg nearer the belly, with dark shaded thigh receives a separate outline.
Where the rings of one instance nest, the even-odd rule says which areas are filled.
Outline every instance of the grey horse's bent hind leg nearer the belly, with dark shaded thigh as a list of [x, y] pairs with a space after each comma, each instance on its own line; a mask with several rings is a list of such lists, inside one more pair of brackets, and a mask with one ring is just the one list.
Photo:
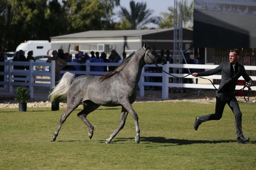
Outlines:
[[88, 132], [88, 136], [90, 139], [92, 139], [93, 137], [93, 130], [94, 127], [92, 124], [90, 124], [90, 122], [88, 121], [88, 119], [86, 118], [86, 116], [91, 113], [92, 111], [95, 111], [97, 108], [99, 108], [99, 105], [96, 105], [93, 102], [86, 102], [86, 107], [84, 110], [82, 110], [81, 112], [79, 112], [77, 114], [77, 116], [82, 119], [82, 121], [85, 123], [85, 125], [87, 125], [87, 127], [89, 128], [90, 132]]

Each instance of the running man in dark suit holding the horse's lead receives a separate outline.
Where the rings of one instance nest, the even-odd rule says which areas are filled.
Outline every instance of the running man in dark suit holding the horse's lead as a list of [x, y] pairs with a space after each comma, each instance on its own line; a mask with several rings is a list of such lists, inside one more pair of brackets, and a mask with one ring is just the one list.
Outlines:
[[229, 62], [221, 62], [221, 64], [209, 71], [203, 71], [199, 73], [192, 73], [194, 77], [210, 76], [221, 72], [221, 83], [216, 91], [216, 106], [215, 114], [207, 114], [204, 116], [197, 116], [195, 118], [194, 128], [198, 130], [198, 126], [202, 122], [209, 120], [219, 120], [222, 117], [222, 113], [226, 104], [230, 107], [235, 115], [236, 120], [236, 134], [237, 142], [245, 143], [250, 140], [250, 138], [244, 138], [242, 131], [242, 113], [240, 111], [238, 102], [235, 96], [236, 81], [239, 77], [243, 77], [247, 82], [246, 87], [250, 88], [253, 84], [253, 80], [245, 72], [244, 66], [238, 63], [239, 50], [231, 49], [229, 54]]

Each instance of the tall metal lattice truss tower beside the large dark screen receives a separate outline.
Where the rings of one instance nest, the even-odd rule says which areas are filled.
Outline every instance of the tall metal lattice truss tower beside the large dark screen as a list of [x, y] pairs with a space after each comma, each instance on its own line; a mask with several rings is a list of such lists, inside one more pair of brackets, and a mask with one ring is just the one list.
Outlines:
[[[178, 2], [179, 1], [179, 2]], [[183, 21], [183, 0], [174, 0], [174, 40], [173, 40], [173, 59], [175, 64], [182, 63], [182, 21]], [[174, 71], [176, 71], [174, 69]], [[179, 69], [181, 73], [181, 68]], [[180, 83], [180, 79], [176, 79]]]

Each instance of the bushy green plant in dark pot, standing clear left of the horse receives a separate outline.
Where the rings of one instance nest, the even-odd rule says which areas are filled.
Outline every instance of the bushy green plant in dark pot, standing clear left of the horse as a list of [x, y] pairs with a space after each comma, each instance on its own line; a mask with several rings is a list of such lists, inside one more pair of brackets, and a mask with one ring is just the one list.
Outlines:
[[27, 102], [30, 101], [28, 88], [24, 86], [19, 86], [16, 88], [17, 93], [14, 100], [19, 102], [19, 111], [26, 111]]

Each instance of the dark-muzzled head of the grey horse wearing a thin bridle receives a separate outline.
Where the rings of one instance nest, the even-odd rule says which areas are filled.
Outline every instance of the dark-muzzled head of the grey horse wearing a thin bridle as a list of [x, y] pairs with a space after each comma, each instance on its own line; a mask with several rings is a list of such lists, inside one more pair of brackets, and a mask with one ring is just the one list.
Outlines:
[[144, 61], [146, 64], [166, 64], [166, 58], [160, 55], [157, 55], [154, 50], [148, 46], [147, 42], [144, 43], [143, 50], [145, 51]]

